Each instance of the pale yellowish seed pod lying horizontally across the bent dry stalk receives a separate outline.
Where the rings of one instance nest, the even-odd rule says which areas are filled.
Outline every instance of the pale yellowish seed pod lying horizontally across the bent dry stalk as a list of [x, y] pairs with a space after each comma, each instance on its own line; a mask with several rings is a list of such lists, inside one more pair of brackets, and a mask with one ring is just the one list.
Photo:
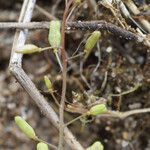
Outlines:
[[22, 54], [32, 54], [35, 52], [40, 52], [42, 48], [37, 47], [36, 45], [33, 44], [26, 44], [19, 50], [16, 50], [17, 53], [22, 53]]

